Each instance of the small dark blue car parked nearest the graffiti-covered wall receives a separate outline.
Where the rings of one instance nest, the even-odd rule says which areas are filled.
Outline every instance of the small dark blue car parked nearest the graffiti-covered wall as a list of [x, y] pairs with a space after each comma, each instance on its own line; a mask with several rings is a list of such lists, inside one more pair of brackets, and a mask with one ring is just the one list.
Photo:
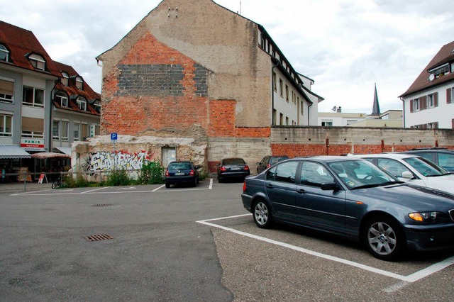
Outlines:
[[165, 187], [170, 188], [171, 184], [199, 184], [199, 169], [193, 162], [170, 162], [165, 170]]

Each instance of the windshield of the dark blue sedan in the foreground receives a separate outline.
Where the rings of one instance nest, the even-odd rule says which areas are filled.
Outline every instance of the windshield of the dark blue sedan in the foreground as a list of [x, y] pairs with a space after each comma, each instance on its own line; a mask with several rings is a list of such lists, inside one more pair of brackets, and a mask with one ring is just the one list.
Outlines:
[[328, 164], [350, 189], [402, 183], [367, 160], [345, 160]]

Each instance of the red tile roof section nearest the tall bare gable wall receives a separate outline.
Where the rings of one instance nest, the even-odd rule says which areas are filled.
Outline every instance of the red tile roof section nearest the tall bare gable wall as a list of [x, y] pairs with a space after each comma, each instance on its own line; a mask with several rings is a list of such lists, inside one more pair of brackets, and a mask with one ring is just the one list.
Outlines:
[[81, 76], [77, 74], [74, 68], [72, 68], [70, 65], [65, 65], [63, 63], [56, 61], [54, 62], [59, 72], [66, 72], [70, 77], [68, 79], [68, 86], [59, 81], [57, 82], [57, 84], [55, 84], [54, 88], [56, 91], [64, 91], [65, 94], [67, 94], [67, 96], [69, 97], [68, 107], [62, 107], [60, 103], [54, 101], [55, 107], [72, 111], [80, 111], [79, 106], [77, 106], [76, 99], [78, 96], [83, 96], [87, 100], [87, 111], [80, 112], [92, 113], [99, 116], [100, 115], [99, 112], [96, 111], [96, 107], [93, 104], [91, 104], [90, 101], [101, 100], [101, 95], [93, 91], [92, 87], [90, 87], [89, 84], [87, 84], [87, 82], [84, 82], [82, 90], [78, 89], [76, 86], [75, 78]]

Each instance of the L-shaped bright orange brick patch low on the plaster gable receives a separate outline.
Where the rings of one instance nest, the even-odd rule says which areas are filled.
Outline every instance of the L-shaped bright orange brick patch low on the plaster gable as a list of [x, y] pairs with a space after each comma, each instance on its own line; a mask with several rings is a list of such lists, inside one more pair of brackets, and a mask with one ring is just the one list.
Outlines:
[[209, 104], [209, 136], [233, 138], [270, 137], [270, 127], [236, 127], [236, 101], [212, 100]]

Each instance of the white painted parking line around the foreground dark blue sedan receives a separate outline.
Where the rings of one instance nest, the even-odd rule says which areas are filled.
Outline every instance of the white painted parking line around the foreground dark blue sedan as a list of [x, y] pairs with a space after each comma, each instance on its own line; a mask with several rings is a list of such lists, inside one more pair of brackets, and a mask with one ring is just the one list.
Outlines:
[[[350, 265], [351, 267], [358, 267], [359, 269], [364, 269], [365, 271], [368, 271], [368, 272], [373, 272], [375, 274], [381, 274], [382, 276], [388, 276], [388, 277], [391, 277], [391, 278], [394, 278], [394, 279], [398, 279], [398, 280], [401, 280], [401, 281], [404, 281], [404, 282], [409, 282], [409, 283], [418, 281], [418, 280], [420, 280], [422, 278], [425, 278], [426, 276], [429, 276], [431, 274], [439, 272], [442, 269], [445, 269], [446, 267], [449, 267], [450, 265], [454, 264], [454, 257], [450, 257], [448, 259], [443, 260], [442, 262], [438, 262], [436, 264], [431, 265], [430, 267], [426, 267], [426, 269], [421, 269], [421, 271], [419, 271], [419, 272], [415, 272], [414, 274], [410, 274], [409, 276], [402, 276], [400, 274], [387, 272], [387, 271], [384, 271], [383, 269], [377, 269], [375, 267], [369, 267], [367, 265], [360, 264], [360, 263], [357, 263], [357, 262], [353, 262], [353, 261], [350, 261], [350, 260], [347, 260], [347, 259], [342, 259], [342, 258], [339, 258], [339, 257], [334, 257], [334, 256], [331, 256], [331, 255], [322, 254], [320, 252], [314, 252], [312, 250], [306, 250], [306, 249], [304, 249], [302, 247], [289, 245], [289, 244], [284, 243], [284, 242], [279, 242], [279, 241], [276, 241], [276, 240], [272, 240], [272, 239], [269, 239], [269, 238], [266, 238], [266, 237], [261, 237], [261, 236], [258, 236], [258, 235], [253, 235], [253, 234], [250, 234], [250, 233], [245, 233], [245, 232], [242, 232], [240, 230], [235, 230], [233, 228], [225, 227], [223, 225], [216, 225], [214, 223], [209, 223], [209, 221], [238, 218], [238, 217], [241, 217], [241, 216], [250, 216], [250, 215], [252, 215], [252, 214], [245, 214], [245, 215], [238, 215], [238, 216], [229, 216], [229, 217], [214, 218], [214, 219], [207, 219], [207, 220], [199, 220], [199, 221], [196, 221], [196, 223], [209, 225], [209, 226], [214, 227], [214, 228], [220, 228], [222, 230], [227, 230], [229, 232], [236, 233], [238, 235], [243, 235], [243, 236], [250, 237], [250, 238], [253, 238], [253, 239], [256, 239], [256, 240], [268, 242], [268, 243], [271, 243], [273, 245], [279, 245], [281, 247], [287, 247], [287, 248], [289, 248], [291, 250], [296, 250], [298, 252], [304, 252], [305, 254], [312, 255], [312, 256], [315, 256], [315, 257], [321, 257], [323, 259], [328, 259], [328, 260], [331, 260], [331, 261], [340, 262], [342, 264]], [[396, 289], [402, 288], [404, 285], [405, 284], [399, 284]], [[394, 287], [396, 287], [396, 286], [394, 286]], [[389, 290], [393, 291], [393, 290], [396, 290], [396, 289], [393, 288], [393, 289], [389, 289]]]

